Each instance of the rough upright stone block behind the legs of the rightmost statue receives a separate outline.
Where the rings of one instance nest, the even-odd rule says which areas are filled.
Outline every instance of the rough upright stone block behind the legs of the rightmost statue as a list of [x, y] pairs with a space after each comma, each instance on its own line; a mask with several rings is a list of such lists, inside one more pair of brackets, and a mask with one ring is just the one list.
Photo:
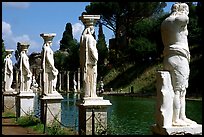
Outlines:
[[174, 91], [169, 71], [156, 73], [157, 105], [156, 124], [161, 127], [172, 126]]

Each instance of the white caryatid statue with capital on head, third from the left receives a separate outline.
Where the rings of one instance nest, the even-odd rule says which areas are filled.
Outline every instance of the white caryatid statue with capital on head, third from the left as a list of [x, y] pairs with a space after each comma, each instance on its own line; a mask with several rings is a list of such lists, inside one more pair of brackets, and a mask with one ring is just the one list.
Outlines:
[[52, 94], [56, 91], [58, 70], [54, 66], [54, 52], [51, 49], [52, 40], [56, 36], [55, 33], [40, 34], [44, 39], [42, 51], [42, 69], [43, 69], [43, 83], [44, 94]]

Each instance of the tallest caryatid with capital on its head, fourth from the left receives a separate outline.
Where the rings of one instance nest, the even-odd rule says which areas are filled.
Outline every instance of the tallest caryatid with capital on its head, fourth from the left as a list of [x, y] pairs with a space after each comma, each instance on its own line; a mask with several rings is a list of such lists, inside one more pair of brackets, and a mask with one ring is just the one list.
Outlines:
[[94, 98], [97, 97], [98, 50], [93, 33], [94, 25], [100, 19], [100, 15], [82, 15], [79, 19], [85, 25], [80, 39], [80, 67], [82, 70], [84, 97]]

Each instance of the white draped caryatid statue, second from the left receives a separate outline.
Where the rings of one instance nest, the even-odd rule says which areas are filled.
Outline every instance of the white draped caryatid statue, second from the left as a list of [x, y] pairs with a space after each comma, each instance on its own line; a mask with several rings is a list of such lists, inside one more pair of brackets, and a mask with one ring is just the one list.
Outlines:
[[30, 70], [29, 58], [27, 56], [28, 44], [19, 43], [20, 53], [20, 92], [31, 91], [32, 72]]

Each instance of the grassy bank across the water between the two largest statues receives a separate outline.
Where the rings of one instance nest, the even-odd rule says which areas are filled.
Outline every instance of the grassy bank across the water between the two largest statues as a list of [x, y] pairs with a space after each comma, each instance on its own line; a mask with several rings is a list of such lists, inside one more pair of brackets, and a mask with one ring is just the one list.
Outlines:
[[130, 92], [133, 86], [134, 93], [151, 93], [156, 90], [156, 71], [161, 69], [161, 62], [126, 64], [123, 69], [112, 68], [104, 77], [105, 88], [106, 90], [113, 88], [114, 91], [122, 89], [123, 92]]

